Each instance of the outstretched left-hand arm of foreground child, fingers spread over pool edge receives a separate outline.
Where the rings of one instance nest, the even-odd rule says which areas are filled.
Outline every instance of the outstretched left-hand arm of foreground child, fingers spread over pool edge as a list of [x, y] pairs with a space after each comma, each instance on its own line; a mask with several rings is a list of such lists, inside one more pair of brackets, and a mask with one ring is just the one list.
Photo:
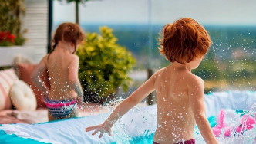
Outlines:
[[[157, 73], [156, 73], [157, 74]], [[136, 106], [137, 103], [140, 103], [148, 94], [152, 93], [154, 88], [154, 77], [156, 74], [150, 77], [143, 85], [141, 85], [137, 90], [135, 90], [126, 100], [123, 100], [116, 109], [113, 110], [113, 113], [106, 119], [103, 124], [97, 126], [90, 126], [86, 128], [86, 132], [95, 130], [93, 135], [100, 132], [99, 138], [103, 136], [104, 133], [108, 133], [111, 136], [111, 127], [120, 117], [127, 113], [133, 106]]]

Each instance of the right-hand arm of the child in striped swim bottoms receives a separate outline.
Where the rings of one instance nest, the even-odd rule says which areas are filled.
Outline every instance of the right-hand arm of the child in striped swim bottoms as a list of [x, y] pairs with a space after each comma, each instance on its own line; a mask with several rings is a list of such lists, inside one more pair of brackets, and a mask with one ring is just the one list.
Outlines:
[[78, 78], [79, 57], [74, 55], [69, 64], [69, 85], [79, 96], [79, 104], [83, 104], [83, 90]]

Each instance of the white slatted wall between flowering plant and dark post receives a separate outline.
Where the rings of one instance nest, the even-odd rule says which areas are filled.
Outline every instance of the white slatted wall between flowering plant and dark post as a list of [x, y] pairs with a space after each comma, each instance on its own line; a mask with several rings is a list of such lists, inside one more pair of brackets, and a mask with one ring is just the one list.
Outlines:
[[22, 18], [22, 29], [27, 29], [24, 34], [27, 38], [24, 47], [35, 49], [34, 62], [39, 62], [47, 53], [48, 31], [48, 1], [25, 0], [25, 16]]

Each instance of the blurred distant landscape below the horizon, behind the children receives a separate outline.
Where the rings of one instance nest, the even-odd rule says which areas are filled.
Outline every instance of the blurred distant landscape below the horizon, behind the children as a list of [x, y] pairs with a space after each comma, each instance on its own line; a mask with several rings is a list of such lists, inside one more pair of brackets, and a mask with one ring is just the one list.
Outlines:
[[[98, 31], [99, 25], [81, 25], [86, 31]], [[147, 69], [148, 25], [108, 25], [113, 34], [136, 57], [133, 71]], [[158, 38], [163, 25], [153, 25], [153, 49], [150, 59], [153, 70], [170, 64], [158, 51]], [[206, 25], [213, 44], [200, 66], [192, 72], [203, 78], [205, 93], [223, 90], [256, 90], [256, 27], [253, 25]], [[143, 77], [143, 75], [141, 75]], [[129, 93], [144, 79], [133, 78]], [[127, 93], [127, 96], [129, 95]]]

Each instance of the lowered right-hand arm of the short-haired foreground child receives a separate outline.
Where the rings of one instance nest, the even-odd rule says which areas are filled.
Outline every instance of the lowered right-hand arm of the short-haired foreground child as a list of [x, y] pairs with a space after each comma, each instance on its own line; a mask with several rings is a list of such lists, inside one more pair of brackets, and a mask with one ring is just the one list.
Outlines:
[[210, 123], [207, 121], [204, 106], [204, 81], [200, 77], [193, 77], [188, 84], [188, 93], [190, 97], [190, 106], [194, 113], [194, 119], [200, 133], [207, 143], [217, 143], [214, 137]]

